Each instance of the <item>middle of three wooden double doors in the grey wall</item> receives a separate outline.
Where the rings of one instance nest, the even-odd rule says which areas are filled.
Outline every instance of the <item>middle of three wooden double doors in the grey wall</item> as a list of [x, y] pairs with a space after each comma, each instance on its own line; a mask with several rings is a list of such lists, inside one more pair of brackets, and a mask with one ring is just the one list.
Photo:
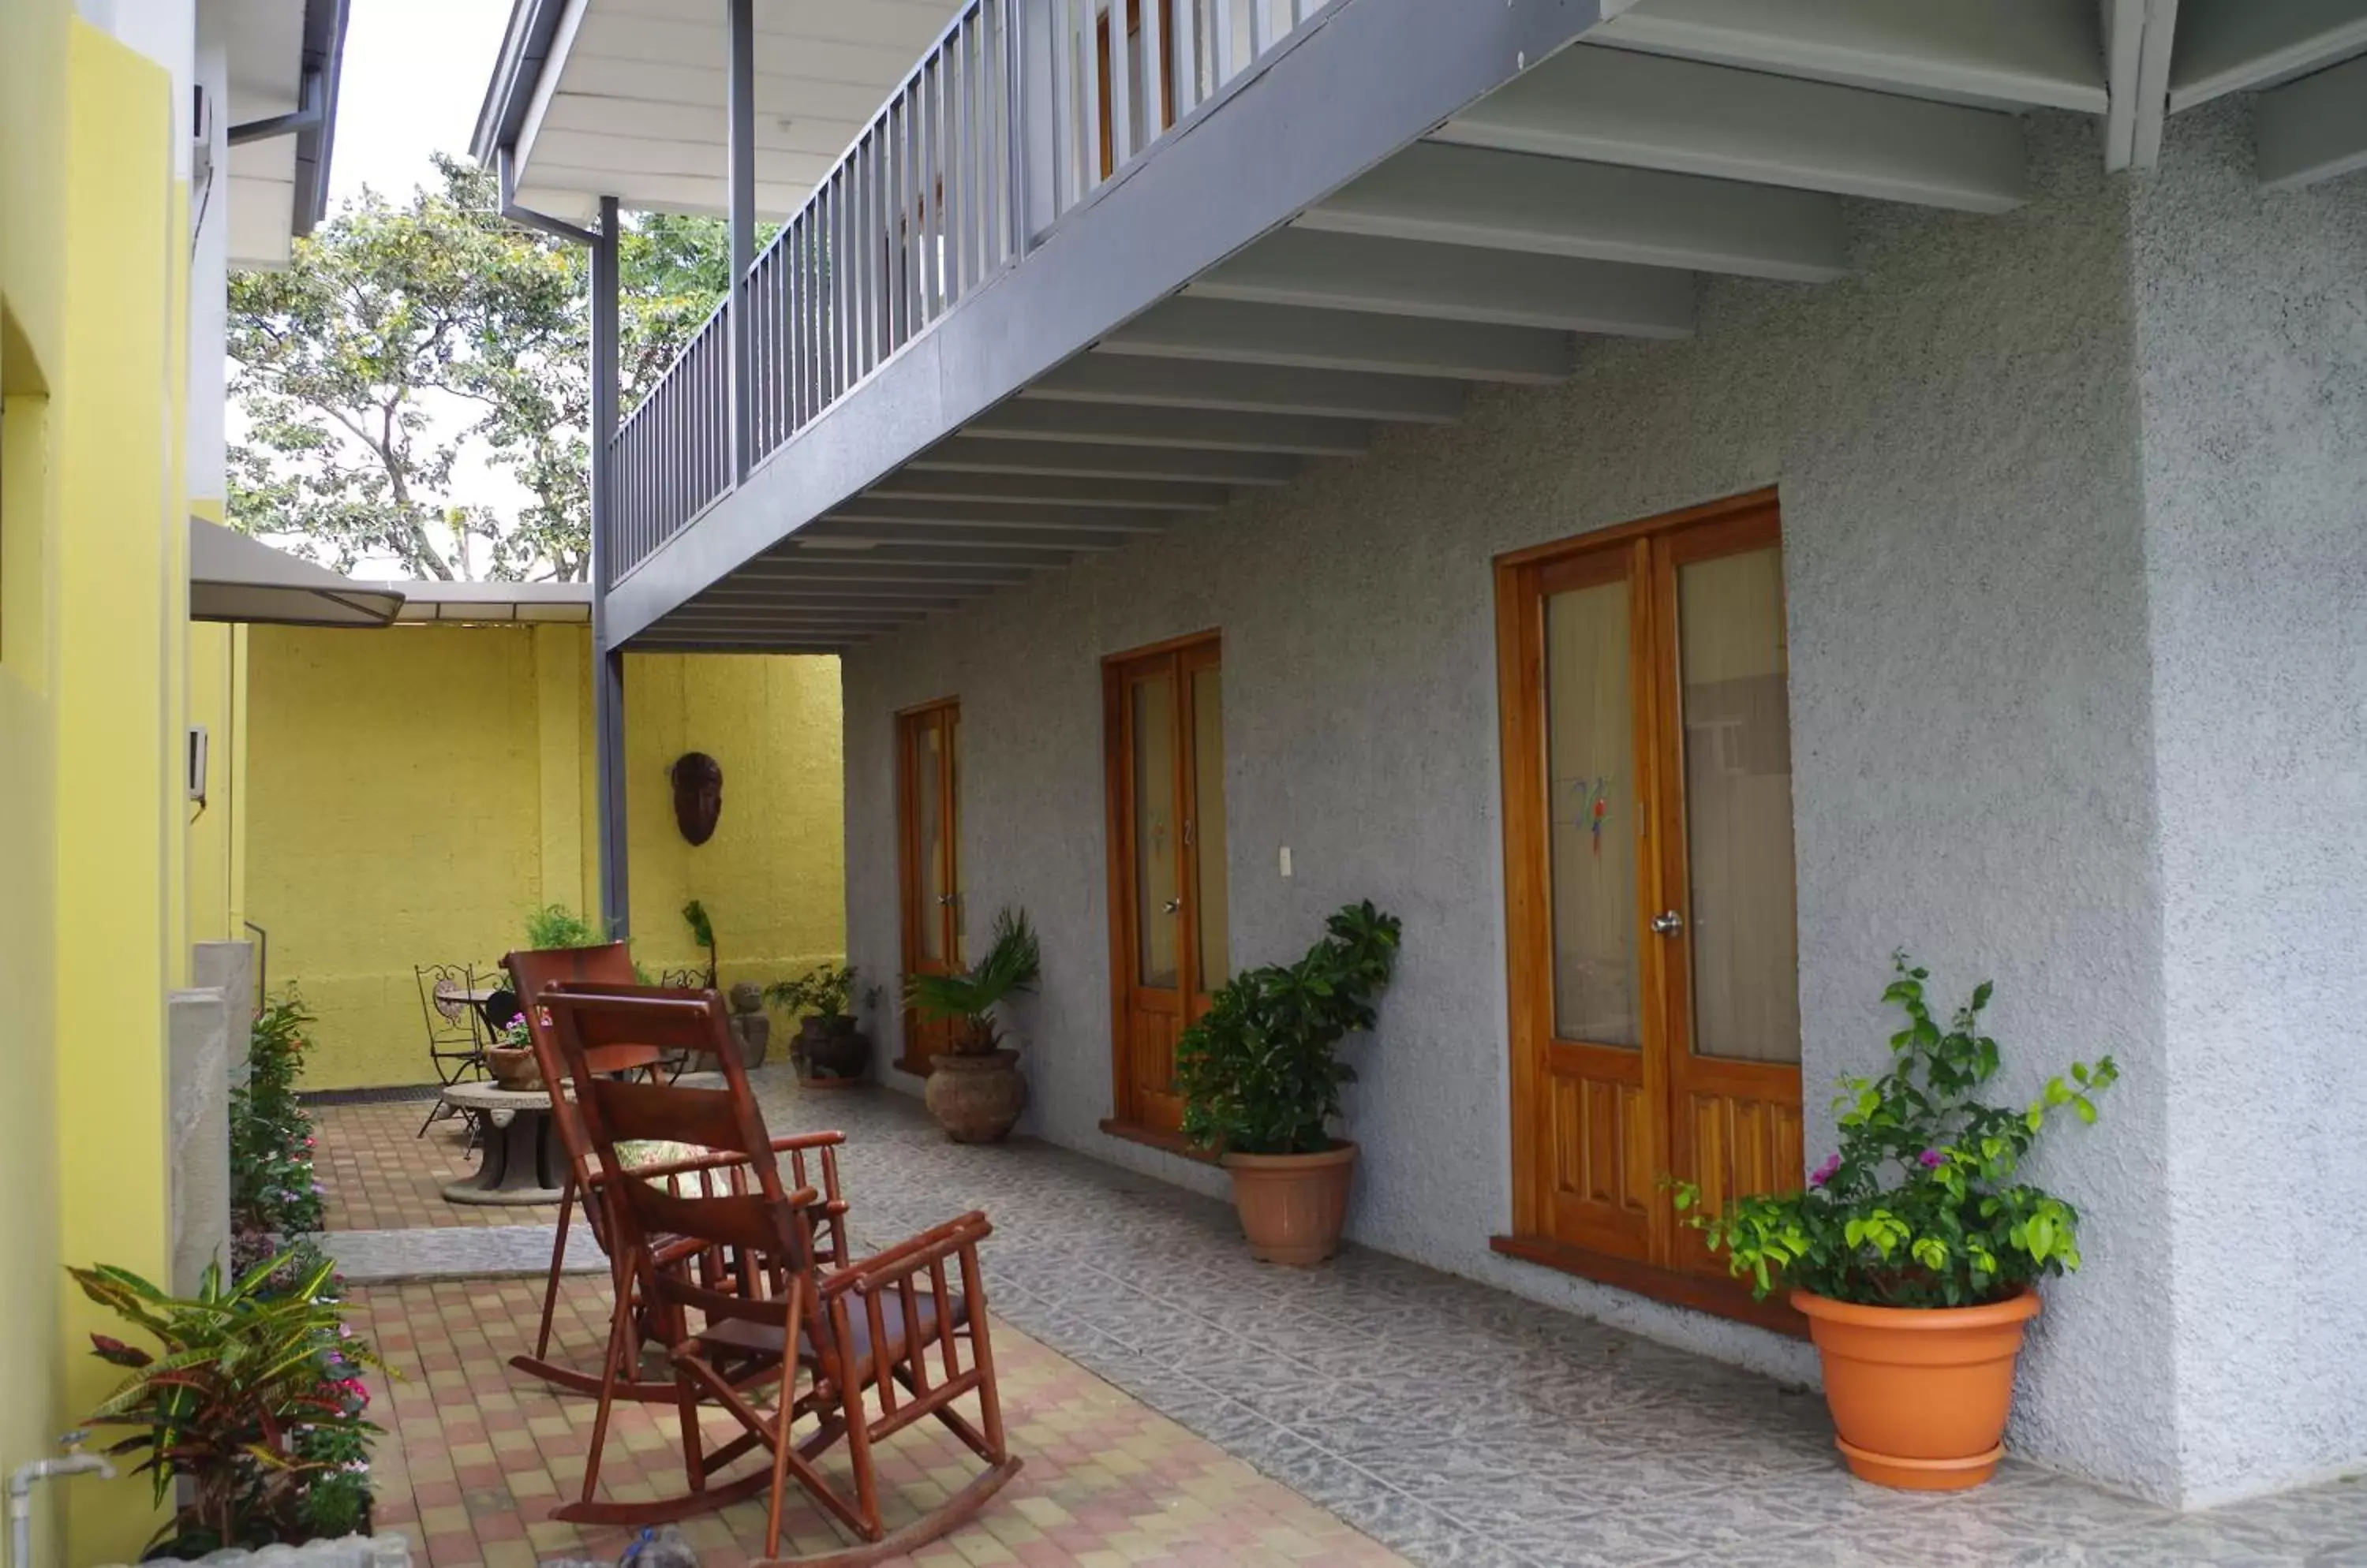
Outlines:
[[1226, 977], [1217, 639], [1103, 665], [1117, 1121], [1174, 1133], [1174, 1050]]

